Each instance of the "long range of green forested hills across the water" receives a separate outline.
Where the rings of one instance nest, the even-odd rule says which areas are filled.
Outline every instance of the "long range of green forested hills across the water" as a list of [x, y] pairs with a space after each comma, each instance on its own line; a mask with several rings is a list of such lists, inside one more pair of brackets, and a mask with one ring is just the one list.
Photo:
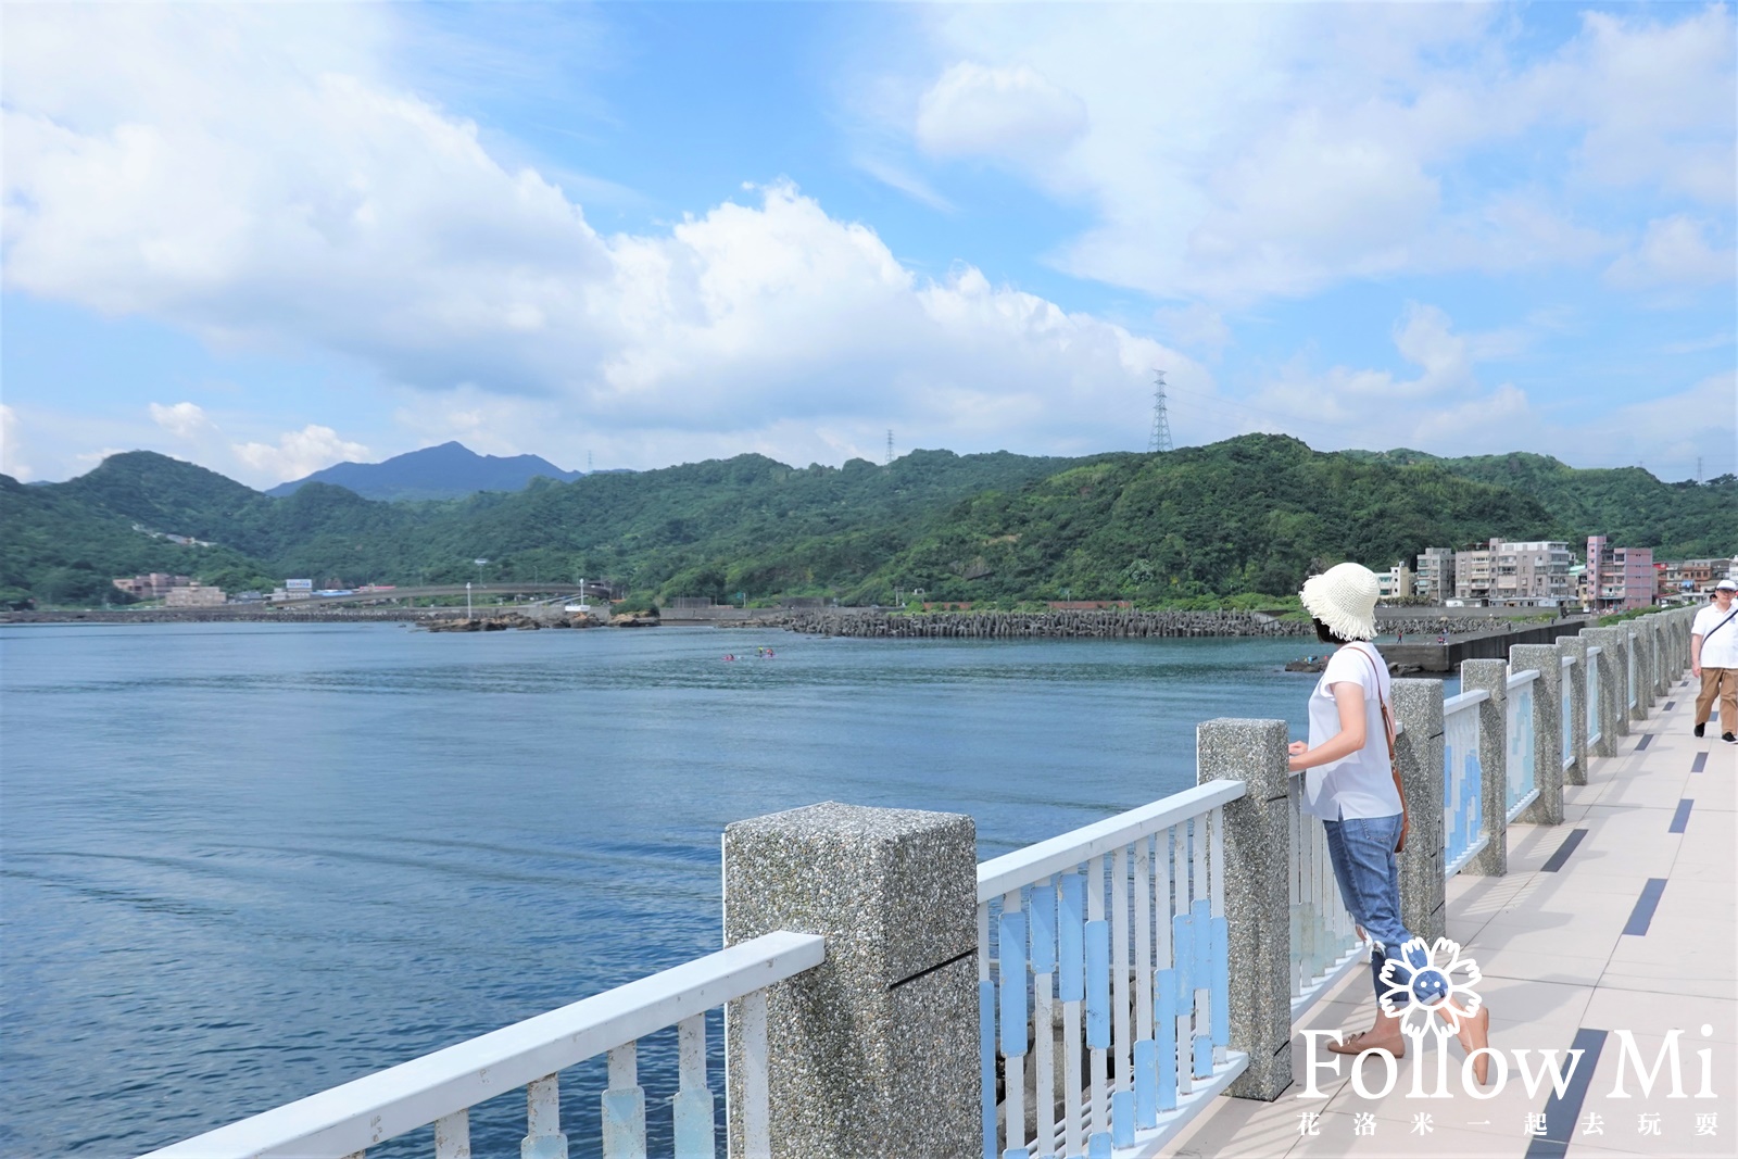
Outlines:
[[[1295, 593], [1323, 563], [1387, 566], [1491, 535], [1738, 546], [1738, 480], [1660, 483], [1540, 455], [1319, 454], [1251, 434], [1163, 455], [912, 452], [892, 466], [787, 467], [739, 455], [660, 471], [535, 478], [520, 492], [379, 502], [327, 483], [285, 497], [151, 452], [40, 487], [0, 476], [5, 599], [115, 598], [109, 579], [184, 572], [228, 589], [615, 580], [641, 599], [834, 594], [1133, 598]], [[139, 530], [136, 530], [136, 525]], [[153, 537], [191, 535], [212, 547]]]

